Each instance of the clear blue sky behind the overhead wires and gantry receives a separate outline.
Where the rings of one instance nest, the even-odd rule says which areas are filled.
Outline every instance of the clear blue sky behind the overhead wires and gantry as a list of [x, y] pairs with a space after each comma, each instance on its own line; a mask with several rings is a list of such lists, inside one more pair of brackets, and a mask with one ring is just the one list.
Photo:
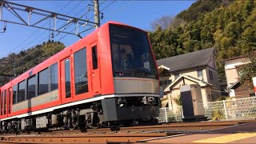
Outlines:
[[[10, 1], [10, 0], [8, 0]], [[47, 0], [47, 1], [38, 1], [38, 0], [13, 0], [10, 2], [36, 7], [42, 10], [49, 10], [59, 14], [66, 14], [73, 17], [81, 17], [88, 10], [88, 4], [92, 4], [88, 1], [61, 1], [61, 0]], [[161, 18], [162, 16], [175, 16], [182, 10], [186, 10], [191, 6], [195, 1], [193, 0], [170, 0], [170, 1], [100, 1], [100, 10], [103, 13], [103, 19], [101, 24], [104, 24], [108, 21], [116, 21], [128, 24], [130, 26], [138, 27], [142, 30], [150, 30], [150, 24], [154, 22], [155, 19]], [[92, 7], [92, 6], [90, 6]], [[104, 9], [104, 10], [102, 10]], [[24, 15], [24, 14], [22, 14]], [[87, 18], [92, 17], [93, 12], [86, 14]], [[24, 15], [25, 17], [26, 15]], [[86, 19], [86, 16], [82, 17]], [[27, 16], [26, 16], [27, 17]], [[25, 19], [26, 19], [25, 17]], [[6, 11], [3, 11], [2, 18], [6, 20], [13, 20], [14, 16], [10, 15]], [[33, 17], [32, 20], [36, 18]], [[90, 19], [94, 21], [94, 19]], [[46, 21], [45, 23], [50, 26], [50, 22]], [[51, 23], [52, 25], [52, 23]], [[62, 23], [58, 23], [60, 26]], [[4, 26], [3, 22], [0, 22], [0, 32]], [[73, 28], [71, 28], [70, 30]], [[74, 26], [73, 26], [74, 27]], [[85, 30], [88, 27], [80, 27], [79, 30]], [[91, 31], [83, 33], [82, 36], [90, 34]], [[20, 26], [11, 23], [6, 24], [6, 32], [0, 33], [0, 58], [6, 57], [10, 53], [18, 54], [21, 50], [26, 50], [42, 42], [46, 42], [50, 38], [49, 30], [40, 30], [38, 28], [29, 27], [29, 26]], [[72, 43], [77, 42], [80, 38], [75, 35], [70, 34], [57, 34], [54, 33], [54, 38], [50, 40], [60, 41], [65, 44], [65, 46], [70, 46]]]

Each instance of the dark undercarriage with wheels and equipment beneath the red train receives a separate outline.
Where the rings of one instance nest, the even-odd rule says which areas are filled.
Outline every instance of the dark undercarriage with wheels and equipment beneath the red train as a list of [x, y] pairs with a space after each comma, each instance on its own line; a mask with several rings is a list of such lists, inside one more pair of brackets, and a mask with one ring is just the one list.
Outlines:
[[96, 102], [1, 121], [3, 133], [29, 131], [86, 130], [103, 126], [130, 126], [134, 121], [157, 122], [158, 97], [105, 98]]

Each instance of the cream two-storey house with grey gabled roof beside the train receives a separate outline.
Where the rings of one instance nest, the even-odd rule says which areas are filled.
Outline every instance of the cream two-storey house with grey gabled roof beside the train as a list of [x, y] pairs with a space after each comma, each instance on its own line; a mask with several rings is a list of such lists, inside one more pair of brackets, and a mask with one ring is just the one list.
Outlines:
[[216, 54], [214, 48], [209, 48], [157, 60], [160, 85], [164, 90], [162, 106], [177, 106], [174, 99], [184, 85], [199, 85], [203, 103], [216, 100], [219, 95]]

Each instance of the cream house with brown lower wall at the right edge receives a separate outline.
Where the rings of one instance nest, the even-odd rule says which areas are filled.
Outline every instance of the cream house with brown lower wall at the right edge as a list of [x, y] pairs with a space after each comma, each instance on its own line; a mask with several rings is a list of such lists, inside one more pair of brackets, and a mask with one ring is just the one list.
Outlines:
[[226, 74], [227, 90], [230, 98], [248, 98], [254, 96], [254, 89], [248, 83], [239, 82], [239, 68], [249, 60], [245, 56], [223, 60]]

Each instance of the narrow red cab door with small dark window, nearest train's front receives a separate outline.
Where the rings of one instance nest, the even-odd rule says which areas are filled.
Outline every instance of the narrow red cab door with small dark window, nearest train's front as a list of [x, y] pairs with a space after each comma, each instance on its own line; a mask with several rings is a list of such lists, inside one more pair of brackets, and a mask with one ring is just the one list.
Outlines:
[[97, 42], [93, 42], [90, 44], [90, 50], [91, 50], [91, 55], [92, 59], [90, 62], [91, 63], [91, 80], [92, 80], [92, 90], [94, 95], [101, 94], [101, 81], [100, 81], [100, 66], [98, 65], [99, 63], [99, 58], [98, 58], [98, 49], [97, 49]]

